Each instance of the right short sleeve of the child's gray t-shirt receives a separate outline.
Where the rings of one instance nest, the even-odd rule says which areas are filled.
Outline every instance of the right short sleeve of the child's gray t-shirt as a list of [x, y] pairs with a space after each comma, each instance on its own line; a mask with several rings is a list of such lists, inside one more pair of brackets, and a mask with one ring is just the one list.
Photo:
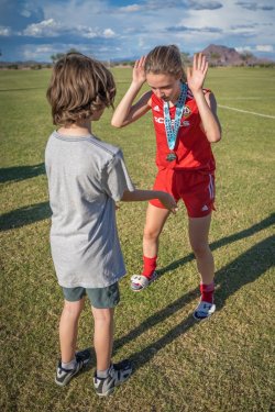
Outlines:
[[134, 185], [128, 174], [121, 151], [117, 152], [107, 166], [103, 190], [116, 202], [121, 200], [125, 190], [134, 191]]

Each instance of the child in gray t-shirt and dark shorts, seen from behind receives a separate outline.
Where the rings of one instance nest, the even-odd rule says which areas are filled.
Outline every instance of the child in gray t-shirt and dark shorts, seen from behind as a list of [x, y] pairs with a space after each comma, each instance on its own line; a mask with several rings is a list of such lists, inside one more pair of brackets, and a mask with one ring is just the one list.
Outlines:
[[111, 73], [78, 53], [56, 63], [47, 90], [53, 122], [61, 126], [50, 136], [45, 152], [53, 212], [51, 249], [65, 297], [55, 382], [67, 385], [90, 360], [87, 352], [75, 353], [78, 320], [88, 294], [95, 320], [94, 385], [99, 396], [111, 393], [132, 372], [127, 359], [111, 363], [118, 280], [125, 274], [116, 201], [157, 198], [168, 210], [176, 208], [168, 193], [135, 190], [121, 151], [92, 135], [91, 121], [112, 105], [114, 96]]

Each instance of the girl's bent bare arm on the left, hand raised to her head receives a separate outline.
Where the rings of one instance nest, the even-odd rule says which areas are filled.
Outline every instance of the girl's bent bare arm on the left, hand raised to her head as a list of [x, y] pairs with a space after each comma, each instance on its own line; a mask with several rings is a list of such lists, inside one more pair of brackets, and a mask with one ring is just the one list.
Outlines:
[[133, 104], [139, 91], [146, 80], [144, 71], [145, 57], [141, 57], [135, 62], [133, 68], [133, 80], [121, 102], [114, 110], [111, 124], [114, 127], [123, 127], [134, 122], [151, 109], [151, 91], [143, 94], [139, 101]]

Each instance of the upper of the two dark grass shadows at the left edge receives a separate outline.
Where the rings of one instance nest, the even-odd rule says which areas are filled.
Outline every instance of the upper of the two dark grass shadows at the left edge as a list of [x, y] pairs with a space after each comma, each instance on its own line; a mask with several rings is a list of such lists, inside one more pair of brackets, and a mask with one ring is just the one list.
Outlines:
[[32, 166], [15, 166], [0, 169], [0, 183], [21, 181], [45, 174], [44, 163]]

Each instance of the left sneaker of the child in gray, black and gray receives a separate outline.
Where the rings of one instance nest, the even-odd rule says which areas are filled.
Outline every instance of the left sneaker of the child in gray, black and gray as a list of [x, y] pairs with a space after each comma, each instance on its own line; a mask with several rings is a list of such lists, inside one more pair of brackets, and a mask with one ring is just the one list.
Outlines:
[[75, 369], [64, 369], [62, 367], [62, 361], [58, 361], [56, 369], [55, 383], [59, 387], [65, 387], [68, 385], [72, 378], [76, 376], [80, 370], [82, 370], [90, 361], [90, 350], [81, 350], [76, 353], [76, 367]]

